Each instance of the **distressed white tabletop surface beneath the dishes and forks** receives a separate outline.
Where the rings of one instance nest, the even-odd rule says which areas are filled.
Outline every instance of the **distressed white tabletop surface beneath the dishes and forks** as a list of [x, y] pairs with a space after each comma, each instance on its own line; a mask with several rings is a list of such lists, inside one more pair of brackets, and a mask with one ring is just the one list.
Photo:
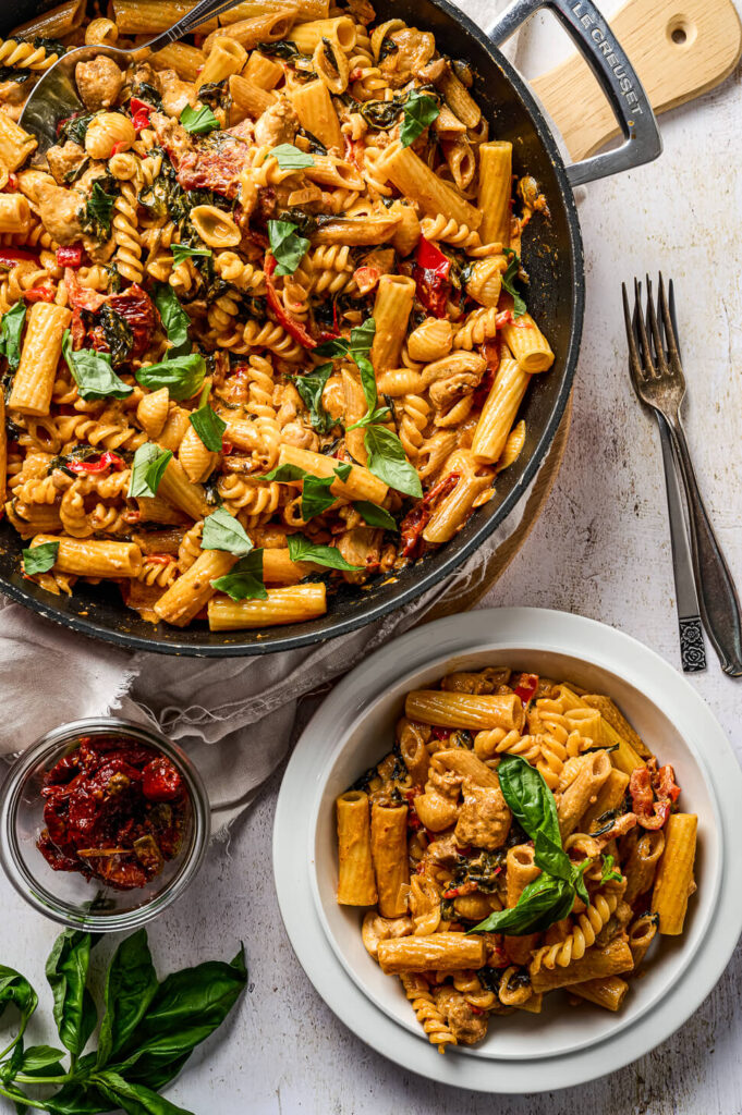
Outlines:
[[[465, 7], [488, 22], [486, 0]], [[616, 4], [601, 7], [609, 16]], [[561, 32], [545, 17], [529, 46], [528, 71], [553, 65], [563, 49]], [[666, 114], [662, 158], [590, 185], [580, 204], [588, 310], [563, 467], [524, 549], [483, 601], [603, 620], [674, 666], [678, 642], [659, 446], [626, 374], [619, 284], [659, 268], [676, 281], [688, 440], [719, 537], [742, 583], [740, 78], [738, 69], [701, 100]], [[707, 671], [691, 682], [739, 749], [742, 681], [722, 675], [707, 650]], [[433, 1084], [386, 1061], [331, 1015], [287, 940], [271, 870], [279, 783], [280, 772], [235, 826], [229, 850], [212, 846], [187, 895], [150, 930], [162, 971], [232, 956], [240, 939], [250, 967], [248, 993], [170, 1089], [174, 1103], [197, 1115], [742, 1112], [739, 950], [715, 991], [674, 1037], [584, 1087], [490, 1097]], [[44, 960], [57, 929], [2, 879], [0, 909], [0, 958], [32, 979], [48, 1015]], [[100, 963], [108, 949], [98, 951]], [[35, 1021], [31, 1038], [52, 1040], [52, 1034]]]

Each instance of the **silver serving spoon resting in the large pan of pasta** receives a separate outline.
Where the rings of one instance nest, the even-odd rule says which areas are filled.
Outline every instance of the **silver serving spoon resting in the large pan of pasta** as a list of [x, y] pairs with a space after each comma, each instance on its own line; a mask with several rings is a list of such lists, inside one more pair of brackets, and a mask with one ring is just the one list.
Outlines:
[[35, 135], [39, 142], [35, 159], [41, 158], [49, 147], [57, 143], [59, 122], [85, 109], [75, 86], [75, 67], [78, 62], [89, 61], [97, 55], [106, 55], [106, 57], [113, 58], [122, 69], [126, 69], [134, 62], [144, 61], [151, 54], [167, 46], [168, 42], [182, 39], [199, 23], [203, 23], [212, 16], [221, 16], [222, 12], [234, 8], [239, 2], [240, 0], [201, 0], [183, 19], [179, 19], [176, 23], [151, 42], [135, 47], [133, 50], [107, 46], [76, 47], [74, 50], [68, 50], [54, 66], [44, 71], [40, 81], [31, 90], [20, 116], [21, 127]]

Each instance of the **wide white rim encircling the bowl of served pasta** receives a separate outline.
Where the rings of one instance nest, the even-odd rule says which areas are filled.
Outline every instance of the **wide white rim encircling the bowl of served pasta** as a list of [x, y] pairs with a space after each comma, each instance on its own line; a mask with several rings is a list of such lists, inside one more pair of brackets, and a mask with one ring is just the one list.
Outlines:
[[[391, 647], [394, 647], [394, 653], [389, 653]], [[307, 864], [306, 845], [299, 840], [297, 843], [301, 845], [301, 853], [292, 851], [282, 830], [290, 812], [295, 842], [297, 831], [300, 831], [300, 826], [306, 826], [311, 860], [315, 853], [317, 811], [325, 793], [327, 774], [337, 760], [337, 755], [343, 752], [344, 743], [347, 745], [348, 736], [357, 727], [358, 720], [365, 715], [373, 715], [383, 692], [392, 681], [397, 681], [395, 662], [409, 663], [404, 673], [406, 677], [422, 669], [433, 669], [453, 657], [486, 649], [512, 650], [514, 653], [528, 648], [581, 659], [615, 675], [643, 692], [676, 728], [683, 746], [698, 765], [709, 791], [711, 808], [716, 814], [720, 862], [714, 864], [713, 885], [716, 893], [709, 901], [713, 918], [705, 919], [711, 922], [705, 939], [698, 933], [704, 948], [701, 949], [698, 943], [693, 968], [690, 967], [693, 956], [684, 957], [680, 977], [662, 995], [644, 1005], [639, 1015], [633, 1016], [630, 1028], [618, 1025], [611, 1027], [607, 1035], [604, 1034], [600, 1038], [600, 1058], [591, 1058], [595, 1044], [551, 1055], [542, 1054], [528, 1061], [510, 1056], [494, 1059], [471, 1055], [449, 1059], [435, 1056], [435, 1050], [431, 1058], [427, 1056], [424, 1035], [417, 1035], [413, 1029], [408, 1031], [396, 1018], [392, 1019], [375, 1006], [368, 992], [360, 990], [358, 982], [350, 978], [338, 960], [326, 937], [324, 919], [316, 905], [318, 895], [315, 869]], [[649, 681], [646, 680], [647, 677]], [[652, 691], [653, 687], [656, 689], [659, 686], [668, 691], [664, 699], [657, 700], [655, 696], [649, 696], [647, 688]], [[678, 705], [684, 710], [682, 730], [678, 727]], [[351, 714], [346, 711], [343, 716], [343, 709], [348, 708], [353, 709]], [[685, 716], [690, 716], [692, 721], [695, 717], [696, 726], [693, 730], [685, 727]], [[340, 717], [341, 727], [333, 730]], [[698, 730], [698, 725], [702, 725], [703, 730]], [[331, 752], [327, 752], [326, 747], [328, 730], [333, 737], [341, 736], [340, 743]], [[319, 736], [325, 740], [325, 750], [317, 757]], [[701, 754], [694, 739], [702, 739], [704, 749], [709, 741], [709, 754], [715, 765], [711, 765], [706, 755]], [[315, 762], [309, 765], [312, 754]], [[301, 807], [300, 816], [296, 812], [296, 794], [291, 801], [291, 786], [297, 778], [305, 797], [307, 786], [312, 786], [310, 801]], [[730, 814], [733, 812], [734, 797], [741, 791], [742, 772], [707, 706], [687, 680], [664, 659], [630, 637], [594, 620], [542, 609], [480, 610], [449, 617], [408, 632], [369, 657], [334, 690], [305, 729], [287, 768], [276, 811], [273, 863], [281, 915], [295, 952], [319, 993], [354, 1032], [393, 1060], [444, 1083], [492, 1092], [522, 1092], [522, 1068], [526, 1064], [529, 1069], [529, 1092], [582, 1083], [627, 1064], [664, 1040], [700, 1006], [721, 976], [742, 930], [742, 911], [730, 905], [729, 896], [729, 878], [735, 878], [735, 885], [742, 884], [742, 866], [734, 862], [733, 856], [724, 855], [724, 849], [729, 851], [731, 846]], [[308, 870], [309, 866], [311, 870]], [[296, 888], [298, 872], [303, 873], [300, 901], [295, 894], [289, 902], [287, 873]], [[717, 894], [719, 901], [715, 902]], [[720, 910], [724, 906], [729, 909], [726, 917], [722, 918]], [[305, 943], [307, 941], [311, 942], [309, 949]], [[363, 1026], [358, 1024], [359, 1015], [364, 1018]], [[449, 1067], [440, 1064], [444, 1059]], [[463, 1067], [459, 1070], [452, 1068], [454, 1061]], [[599, 1067], [594, 1061], [599, 1063]], [[465, 1079], [460, 1076], [463, 1072], [466, 1074]], [[515, 1075], [519, 1073], [520, 1079]]]

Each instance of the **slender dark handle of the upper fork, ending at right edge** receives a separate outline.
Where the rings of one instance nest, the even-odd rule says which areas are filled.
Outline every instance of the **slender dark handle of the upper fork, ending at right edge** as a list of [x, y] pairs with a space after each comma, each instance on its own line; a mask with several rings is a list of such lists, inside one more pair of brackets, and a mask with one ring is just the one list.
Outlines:
[[714, 534], [688, 452], [680, 416], [666, 414], [667, 428], [680, 464], [691, 525], [691, 547], [701, 612], [724, 673], [742, 676], [740, 602], [724, 555]]

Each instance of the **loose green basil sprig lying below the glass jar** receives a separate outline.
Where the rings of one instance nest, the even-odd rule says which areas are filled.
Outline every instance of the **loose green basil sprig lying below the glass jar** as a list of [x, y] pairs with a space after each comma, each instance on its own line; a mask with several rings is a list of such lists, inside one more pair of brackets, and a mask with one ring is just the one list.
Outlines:
[[[137, 930], [118, 946], [103, 991], [104, 1017], [97, 1049], [83, 1055], [98, 1018], [90, 993], [90, 951], [99, 938], [65, 930], [46, 966], [54, 1019], [64, 1049], [25, 1048], [23, 1034], [38, 996], [12, 968], [0, 966], [0, 1014], [13, 1005], [20, 1024], [0, 1054], [0, 1095], [54, 1115], [93, 1115], [123, 1108], [129, 1115], [191, 1115], [158, 1095], [195, 1049], [221, 1025], [247, 983], [244, 953], [230, 963], [210, 960], [160, 981], [147, 934]], [[69, 1054], [69, 1067], [64, 1061]], [[27, 1095], [38, 1083], [54, 1087], [45, 1098]]]

